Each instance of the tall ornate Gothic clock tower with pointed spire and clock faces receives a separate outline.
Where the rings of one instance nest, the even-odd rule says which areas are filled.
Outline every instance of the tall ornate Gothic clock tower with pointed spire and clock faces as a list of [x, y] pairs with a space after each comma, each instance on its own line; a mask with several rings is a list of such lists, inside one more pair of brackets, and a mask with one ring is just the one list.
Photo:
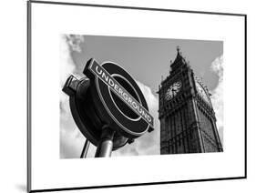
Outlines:
[[210, 93], [177, 51], [158, 92], [160, 154], [221, 152]]

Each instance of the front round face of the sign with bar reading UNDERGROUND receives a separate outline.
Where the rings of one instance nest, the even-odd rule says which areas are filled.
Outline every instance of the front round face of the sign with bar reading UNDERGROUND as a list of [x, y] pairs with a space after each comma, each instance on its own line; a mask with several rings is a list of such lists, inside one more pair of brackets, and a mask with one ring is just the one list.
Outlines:
[[112, 62], [99, 65], [90, 59], [84, 70], [97, 114], [124, 137], [136, 138], [153, 130], [153, 117], [136, 81]]

